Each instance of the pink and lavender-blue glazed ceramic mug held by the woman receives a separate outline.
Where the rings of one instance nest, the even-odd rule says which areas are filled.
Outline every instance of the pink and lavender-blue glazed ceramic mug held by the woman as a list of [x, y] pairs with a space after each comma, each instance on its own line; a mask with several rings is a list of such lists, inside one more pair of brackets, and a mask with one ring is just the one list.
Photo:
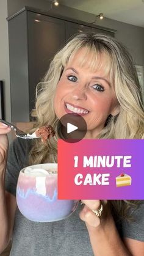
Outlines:
[[[57, 164], [37, 164], [32, 169], [54, 170]], [[30, 221], [59, 221], [70, 216], [77, 200], [57, 199], [57, 174], [32, 176], [20, 171], [16, 188], [16, 202], [21, 213]]]

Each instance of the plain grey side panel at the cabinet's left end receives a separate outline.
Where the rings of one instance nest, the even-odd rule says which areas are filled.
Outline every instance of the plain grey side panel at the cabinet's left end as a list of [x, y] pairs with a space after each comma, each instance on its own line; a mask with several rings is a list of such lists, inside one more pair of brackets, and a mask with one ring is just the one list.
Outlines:
[[26, 12], [9, 20], [9, 57], [12, 122], [29, 122]]

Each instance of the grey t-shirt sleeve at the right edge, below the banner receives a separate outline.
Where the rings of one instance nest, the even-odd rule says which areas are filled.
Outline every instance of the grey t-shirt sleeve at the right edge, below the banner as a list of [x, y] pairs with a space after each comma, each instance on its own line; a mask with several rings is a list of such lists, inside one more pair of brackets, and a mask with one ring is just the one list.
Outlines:
[[121, 232], [124, 238], [144, 241], [144, 200], [139, 207], [131, 211], [134, 221], [122, 221]]

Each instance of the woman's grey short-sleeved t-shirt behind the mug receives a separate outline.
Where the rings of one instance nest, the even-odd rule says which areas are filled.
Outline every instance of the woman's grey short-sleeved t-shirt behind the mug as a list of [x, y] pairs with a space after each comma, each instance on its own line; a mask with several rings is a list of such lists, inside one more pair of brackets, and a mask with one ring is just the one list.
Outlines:
[[[16, 194], [18, 175], [28, 165], [31, 140], [15, 139], [9, 148], [5, 188]], [[10, 256], [92, 256], [92, 246], [85, 223], [79, 219], [82, 206], [67, 219], [56, 222], [33, 222], [24, 218], [18, 208], [12, 236]], [[132, 215], [136, 221], [116, 221], [121, 237], [144, 241], [144, 202]]]

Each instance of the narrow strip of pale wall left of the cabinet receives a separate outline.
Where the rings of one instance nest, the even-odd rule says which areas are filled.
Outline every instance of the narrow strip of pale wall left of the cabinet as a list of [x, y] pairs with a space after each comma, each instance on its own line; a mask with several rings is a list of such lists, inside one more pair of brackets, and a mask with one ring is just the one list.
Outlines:
[[0, 80], [4, 81], [5, 120], [10, 122], [10, 74], [7, 16], [7, 0], [0, 0]]

